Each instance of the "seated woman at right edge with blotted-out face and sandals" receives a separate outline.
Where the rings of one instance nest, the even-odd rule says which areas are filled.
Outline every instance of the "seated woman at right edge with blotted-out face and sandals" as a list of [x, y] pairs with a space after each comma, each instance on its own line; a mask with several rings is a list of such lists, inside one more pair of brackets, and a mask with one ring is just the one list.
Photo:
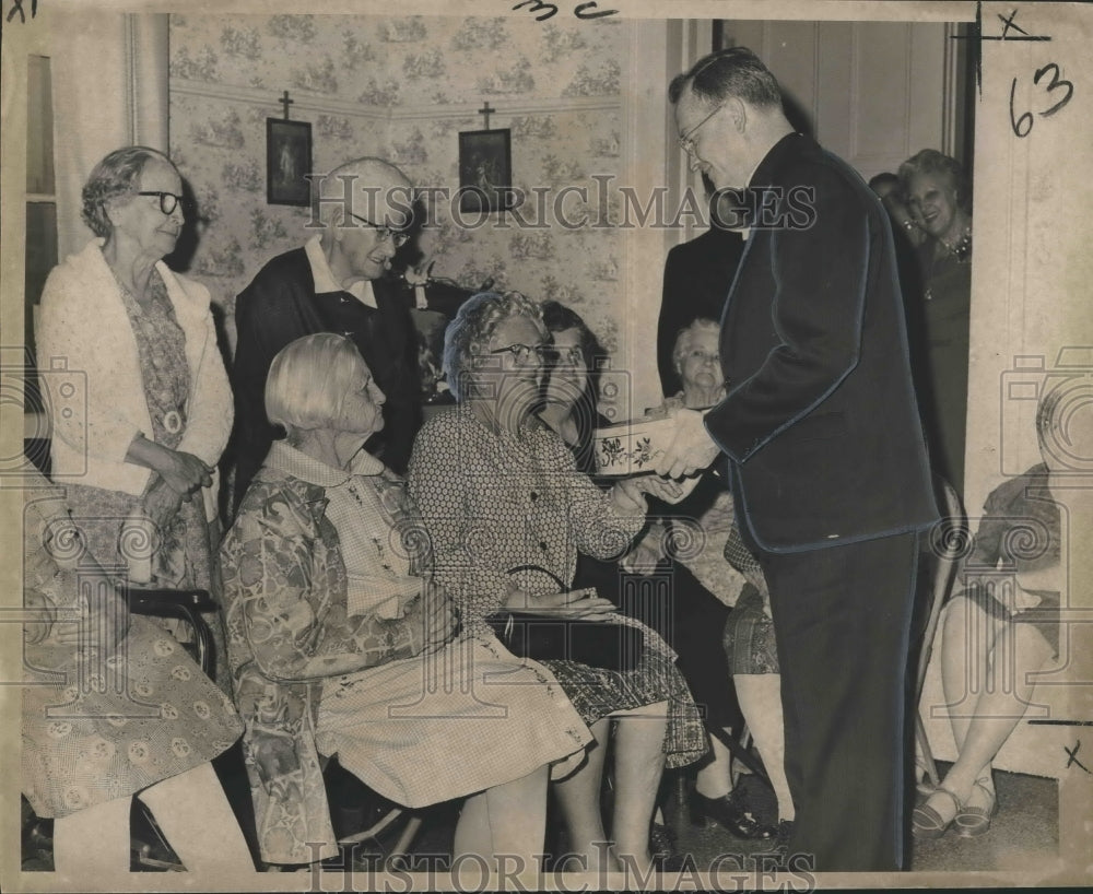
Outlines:
[[[1042, 463], [990, 492], [962, 569], [965, 588], [945, 608], [941, 681], [956, 762], [915, 808], [912, 831], [939, 838], [950, 827], [974, 837], [998, 811], [991, 762], [1035, 704], [1035, 673], [1059, 655], [1061, 517], [1054, 477], [1070, 467], [1058, 445], [1063, 389], [1036, 413]], [[1066, 419], [1065, 455], [1093, 456], [1093, 404]], [[1076, 449], [1077, 447], [1077, 449]], [[1054, 448], [1054, 449], [1053, 449]], [[1030, 679], [1032, 678], [1032, 679]], [[971, 691], [969, 681], [976, 687]]]

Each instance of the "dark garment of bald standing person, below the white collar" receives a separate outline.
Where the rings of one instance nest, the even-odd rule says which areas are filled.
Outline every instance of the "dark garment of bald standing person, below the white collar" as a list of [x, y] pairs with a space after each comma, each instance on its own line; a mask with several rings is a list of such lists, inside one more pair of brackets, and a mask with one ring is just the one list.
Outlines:
[[279, 255], [255, 277], [235, 303], [238, 344], [232, 368], [235, 390], [235, 504], [238, 505], [270, 444], [279, 435], [266, 417], [266, 376], [289, 342], [314, 332], [349, 336], [368, 364], [384, 403], [383, 459], [406, 471], [421, 426], [418, 343], [402, 290], [374, 280], [376, 309], [348, 292], [316, 295], [307, 252]]

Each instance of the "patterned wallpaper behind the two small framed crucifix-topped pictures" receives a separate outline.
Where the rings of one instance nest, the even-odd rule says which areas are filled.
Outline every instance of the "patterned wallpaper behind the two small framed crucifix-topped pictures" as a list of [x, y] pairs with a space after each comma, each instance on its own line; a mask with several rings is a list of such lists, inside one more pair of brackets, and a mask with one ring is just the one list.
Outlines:
[[[592, 175], [619, 174], [620, 111], [587, 105], [620, 98], [625, 30], [614, 20], [172, 15], [172, 156], [205, 221], [190, 270], [223, 304], [230, 337], [234, 296], [305, 237], [306, 209], [266, 203], [266, 118], [280, 117], [283, 90], [297, 101], [290, 117], [312, 121], [317, 170], [378, 155], [418, 186], [453, 192], [457, 134], [483, 120], [428, 110], [489, 101], [497, 109], [490, 126], [512, 129], [514, 186], [529, 195], [550, 187], [553, 204], [562, 187], [584, 186], [593, 197]], [[261, 98], [240, 98], [238, 89]], [[549, 108], [513, 115], [506, 104]], [[564, 205], [571, 216], [575, 201]], [[552, 215], [546, 228], [517, 228], [510, 219], [500, 228], [491, 225], [496, 219], [459, 227], [440, 202], [434, 274], [471, 287], [492, 278], [498, 287], [563, 301], [619, 349], [616, 234], [559, 226]]]

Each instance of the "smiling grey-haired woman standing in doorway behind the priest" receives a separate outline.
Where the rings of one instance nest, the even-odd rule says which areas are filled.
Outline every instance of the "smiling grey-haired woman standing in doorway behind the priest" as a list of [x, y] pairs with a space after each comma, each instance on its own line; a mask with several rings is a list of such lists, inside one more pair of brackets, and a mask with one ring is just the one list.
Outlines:
[[907, 204], [928, 236], [918, 247], [922, 298], [918, 350], [925, 354], [912, 357], [915, 385], [930, 460], [963, 498], [972, 187], [960, 163], [933, 149], [924, 149], [900, 165], [898, 176]]

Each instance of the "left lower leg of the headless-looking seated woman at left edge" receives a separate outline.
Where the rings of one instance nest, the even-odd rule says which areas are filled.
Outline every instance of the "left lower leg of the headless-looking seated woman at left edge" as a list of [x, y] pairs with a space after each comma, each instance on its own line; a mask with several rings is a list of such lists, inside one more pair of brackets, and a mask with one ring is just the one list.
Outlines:
[[131, 808], [127, 796], [54, 820], [54, 869], [72, 881], [128, 872]]

